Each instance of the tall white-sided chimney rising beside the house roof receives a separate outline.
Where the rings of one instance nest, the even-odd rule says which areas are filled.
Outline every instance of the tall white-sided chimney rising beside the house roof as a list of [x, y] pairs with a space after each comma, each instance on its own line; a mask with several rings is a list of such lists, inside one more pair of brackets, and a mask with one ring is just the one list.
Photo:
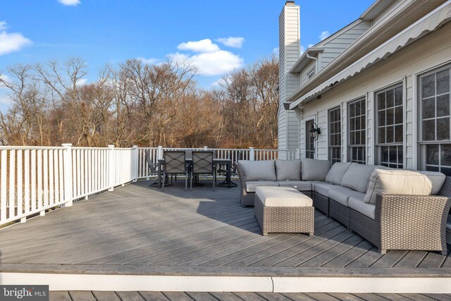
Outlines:
[[299, 75], [289, 73], [299, 59], [299, 52], [299, 6], [288, 2], [279, 17], [279, 149], [296, 149], [299, 145], [299, 120], [294, 112], [283, 107], [285, 99], [299, 87]]

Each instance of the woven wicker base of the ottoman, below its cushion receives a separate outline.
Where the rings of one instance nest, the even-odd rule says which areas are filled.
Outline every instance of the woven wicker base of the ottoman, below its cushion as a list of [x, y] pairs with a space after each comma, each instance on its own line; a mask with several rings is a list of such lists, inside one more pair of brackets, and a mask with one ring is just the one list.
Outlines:
[[254, 214], [263, 235], [267, 233], [314, 234], [314, 207], [265, 207], [255, 195]]

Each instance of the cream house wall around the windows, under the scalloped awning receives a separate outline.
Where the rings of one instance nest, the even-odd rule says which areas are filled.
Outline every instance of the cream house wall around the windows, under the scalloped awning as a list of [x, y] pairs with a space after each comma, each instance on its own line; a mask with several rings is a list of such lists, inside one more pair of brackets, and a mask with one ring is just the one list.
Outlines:
[[437, 66], [451, 62], [451, 23], [445, 24], [435, 32], [422, 37], [408, 47], [397, 51], [388, 59], [376, 63], [353, 78], [334, 87], [304, 104], [298, 110], [299, 148], [302, 157], [305, 156], [305, 121], [314, 116], [321, 128], [321, 135], [316, 141], [316, 159], [328, 159], [328, 109], [341, 107], [342, 121], [342, 161], [347, 161], [347, 104], [365, 97], [366, 99], [366, 162], [374, 164], [374, 95], [397, 83], [403, 84], [404, 104], [404, 168], [418, 169], [417, 159], [417, 75]]

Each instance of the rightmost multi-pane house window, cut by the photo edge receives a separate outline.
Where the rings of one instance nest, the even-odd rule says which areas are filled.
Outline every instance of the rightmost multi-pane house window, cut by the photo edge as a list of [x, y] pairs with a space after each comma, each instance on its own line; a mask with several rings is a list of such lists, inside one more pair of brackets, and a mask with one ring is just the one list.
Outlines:
[[450, 65], [419, 76], [420, 167], [451, 176]]

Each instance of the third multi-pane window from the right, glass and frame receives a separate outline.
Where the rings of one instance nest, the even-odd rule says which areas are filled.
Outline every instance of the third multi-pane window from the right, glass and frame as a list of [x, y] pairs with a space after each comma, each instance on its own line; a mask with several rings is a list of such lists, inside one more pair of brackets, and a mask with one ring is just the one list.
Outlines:
[[365, 99], [347, 105], [348, 159], [350, 162], [366, 164], [366, 106]]

